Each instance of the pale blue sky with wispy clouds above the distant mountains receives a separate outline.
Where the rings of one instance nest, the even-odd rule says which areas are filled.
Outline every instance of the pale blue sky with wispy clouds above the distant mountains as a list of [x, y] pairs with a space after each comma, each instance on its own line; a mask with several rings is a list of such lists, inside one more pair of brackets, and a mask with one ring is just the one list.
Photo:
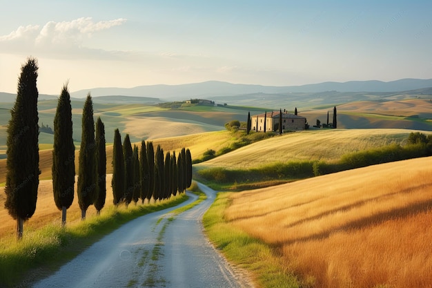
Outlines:
[[[432, 1], [0, 0], [0, 92], [432, 78]], [[84, 93], [83, 97], [86, 96]]]

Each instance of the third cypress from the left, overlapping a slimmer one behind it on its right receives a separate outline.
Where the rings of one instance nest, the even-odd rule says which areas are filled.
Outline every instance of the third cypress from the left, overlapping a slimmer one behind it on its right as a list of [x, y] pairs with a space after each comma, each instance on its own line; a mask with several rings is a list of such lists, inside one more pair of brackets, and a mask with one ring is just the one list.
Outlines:
[[82, 115], [81, 148], [79, 149], [78, 204], [81, 219], [86, 219], [88, 207], [97, 198], [97, 167], [93, 102], [88, 93]]

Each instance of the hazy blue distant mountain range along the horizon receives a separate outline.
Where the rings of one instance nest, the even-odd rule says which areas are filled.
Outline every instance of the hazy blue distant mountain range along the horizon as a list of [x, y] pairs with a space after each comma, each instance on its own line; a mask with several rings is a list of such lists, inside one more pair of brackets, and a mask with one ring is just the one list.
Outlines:
[[[97, 101], [139, 101], [130, 97], [146, 97], [145, 102], [181, 101], [184, 99], [210, 97], [226, 97], [235, 95], [246, 95], [253, 93], [279, 94], [279, 93], [320, 93], [326, 91], [337, 92], [400, 92], [431, 88], [432, 79], [400, 79], [396, 81], [347, 81], [347, 82], [324, 82], [318, 84], [306, 84], [302, 86], [262, 86], [253, 84], [232, 84], [222, 81], [206, 81], [195, 84], [181, 85], [150, 85], [137, 86], [134, 88], [92, 88], [70, 93], [75, 100], [83, 100], [90, 92], [92, 97], [99, 98]], [[128, 97], [124, 97], [128, 96]], [[14, 102], [15, 95], [0, 93], [0, 102]], [[39, 95], [39, 99], [57, 99], [56, 95]], [[96, 101], [96, 98], [94, 98]], [[128, 99], [128, 100], [126, 100]]]

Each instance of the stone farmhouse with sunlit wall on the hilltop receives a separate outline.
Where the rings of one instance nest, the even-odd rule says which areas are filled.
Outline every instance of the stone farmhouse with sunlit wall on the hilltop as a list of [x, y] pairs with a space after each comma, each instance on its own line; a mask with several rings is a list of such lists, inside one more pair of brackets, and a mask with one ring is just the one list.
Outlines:
[[[264, 121], [266, 122], [266, 132], [279, 131], [280, 111], [271, 111], [259, 115], [251, 116], [251, 130], [264, 132]], [[299, 131], [306, 127], [306, 118], [282, 112], [282, 131]]]

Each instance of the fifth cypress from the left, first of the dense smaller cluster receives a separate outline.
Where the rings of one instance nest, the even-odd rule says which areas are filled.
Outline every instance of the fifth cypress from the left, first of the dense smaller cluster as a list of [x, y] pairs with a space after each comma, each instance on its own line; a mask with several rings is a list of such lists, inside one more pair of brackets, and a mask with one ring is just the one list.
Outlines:
[[114, 143], [112, 145], [112, 202], [118, 205], [123, 198], [125, 189], [123, 146], [121, 146], [121, 135], [118, 128], [114, 131]]

